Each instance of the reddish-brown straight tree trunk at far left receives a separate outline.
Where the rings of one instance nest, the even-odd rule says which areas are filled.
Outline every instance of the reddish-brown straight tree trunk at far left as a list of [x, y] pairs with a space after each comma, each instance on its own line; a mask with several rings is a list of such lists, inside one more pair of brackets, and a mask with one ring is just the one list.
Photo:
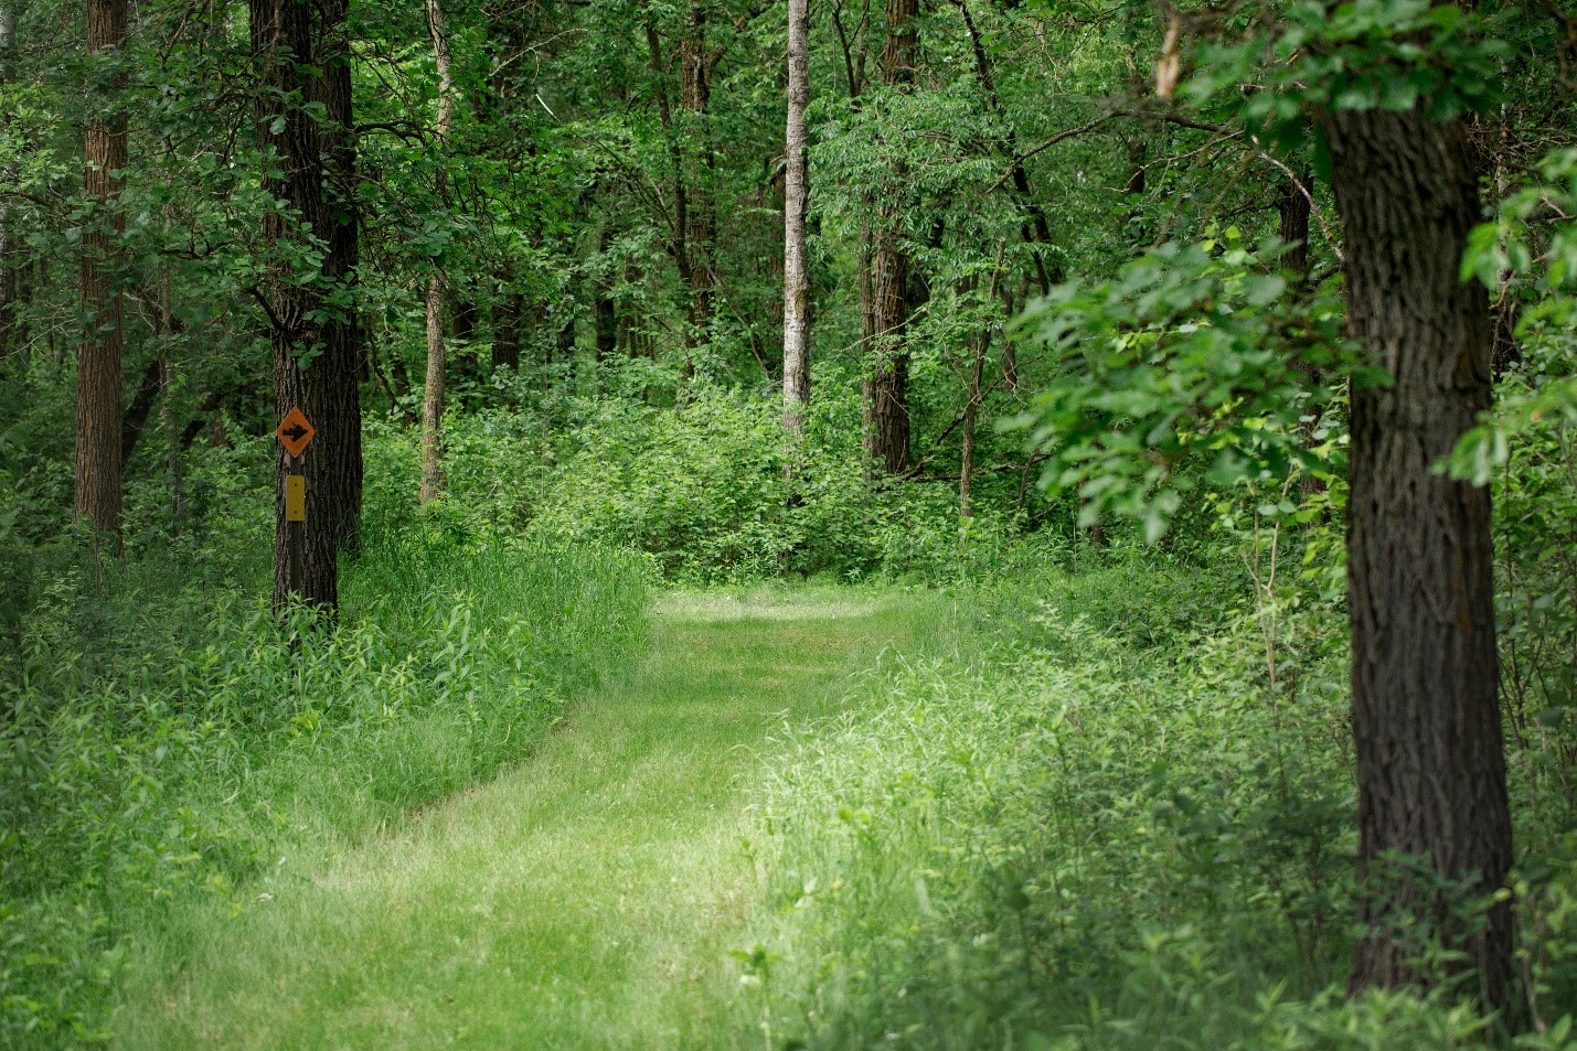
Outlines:
[[[126, 0], [88, 0], [88, 55], [118, 52], [126, 43]], [[110, 55], [117, 58], [117, 55]], [[82, 230], [82, 306], [91, 318], [77, 350], [76, 515], [103, 533], [120, 531], [120, 358], [123, 340], [118, 213], [120, 170], [126, 167], [126, 118], [118, 112], [125, 74], [114, 74], [96, 102], [110, 112], [90, 120], [82, 189], [95, 213]]]

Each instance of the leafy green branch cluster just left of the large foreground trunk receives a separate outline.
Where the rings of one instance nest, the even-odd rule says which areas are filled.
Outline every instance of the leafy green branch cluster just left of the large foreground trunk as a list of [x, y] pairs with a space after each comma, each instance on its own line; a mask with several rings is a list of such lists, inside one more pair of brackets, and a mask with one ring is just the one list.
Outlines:
[[1009, 425], [1046, 457], [1041, 484], [1077, 493], [1082, 523], [1113, 512], [1156, 540], [1202, 482], [1279, 490], [1266, 514], [1292, 515], [1290, 479], [1340, 476], [1342, 383], [1378, 380], [1340, 336], [1331, 282], [1290, 296], [1276, 257], [1228, 227], [1061, 285], [1019, 321], [1053, 372]]

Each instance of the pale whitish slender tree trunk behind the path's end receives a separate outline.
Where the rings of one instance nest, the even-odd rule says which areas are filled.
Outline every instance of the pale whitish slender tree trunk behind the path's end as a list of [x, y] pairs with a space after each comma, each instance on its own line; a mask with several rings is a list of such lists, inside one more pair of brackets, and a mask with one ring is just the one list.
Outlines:
[[811, 400], [811, 274], [804, 257], [809, 197], [811, 2], [788, 0], [788, 126], [784, 139], [784, 427], [804, 435]]

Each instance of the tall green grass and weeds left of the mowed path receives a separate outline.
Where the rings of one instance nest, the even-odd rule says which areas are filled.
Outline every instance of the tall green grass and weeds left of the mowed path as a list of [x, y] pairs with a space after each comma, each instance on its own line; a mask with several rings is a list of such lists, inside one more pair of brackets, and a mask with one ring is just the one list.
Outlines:
[[639, 649], [639, 559], [413, 536], [347, 570], [331, 630], [276, 619], [244, 558], [84, 569], [33, 610], [0, 684], [0, 1045], [104, 1038], [164, 903], [246, 908], [260, 867], [490, 777]]

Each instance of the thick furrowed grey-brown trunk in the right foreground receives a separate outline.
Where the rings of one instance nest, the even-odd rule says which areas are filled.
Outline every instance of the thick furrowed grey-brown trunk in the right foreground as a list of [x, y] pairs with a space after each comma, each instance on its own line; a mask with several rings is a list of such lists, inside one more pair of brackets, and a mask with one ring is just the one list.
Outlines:
[[1473, 895], [1503, 886], [1511, 818], [1497, 703], [1490, 498], [1432, 468], [1490, 403], [1484, 290], [1457, 279], [1478, 194], [1463, 129], [1418, 112], [1326, 117], [1345, 225], [1348, 326], [1388, 389], [1351, 405], [1348, 607], [1364, 897], [1353, 990], [1426, 980], [1421, 922], [1506, 1005], [1508, 903], [1482, 930], [1392, 856]]

